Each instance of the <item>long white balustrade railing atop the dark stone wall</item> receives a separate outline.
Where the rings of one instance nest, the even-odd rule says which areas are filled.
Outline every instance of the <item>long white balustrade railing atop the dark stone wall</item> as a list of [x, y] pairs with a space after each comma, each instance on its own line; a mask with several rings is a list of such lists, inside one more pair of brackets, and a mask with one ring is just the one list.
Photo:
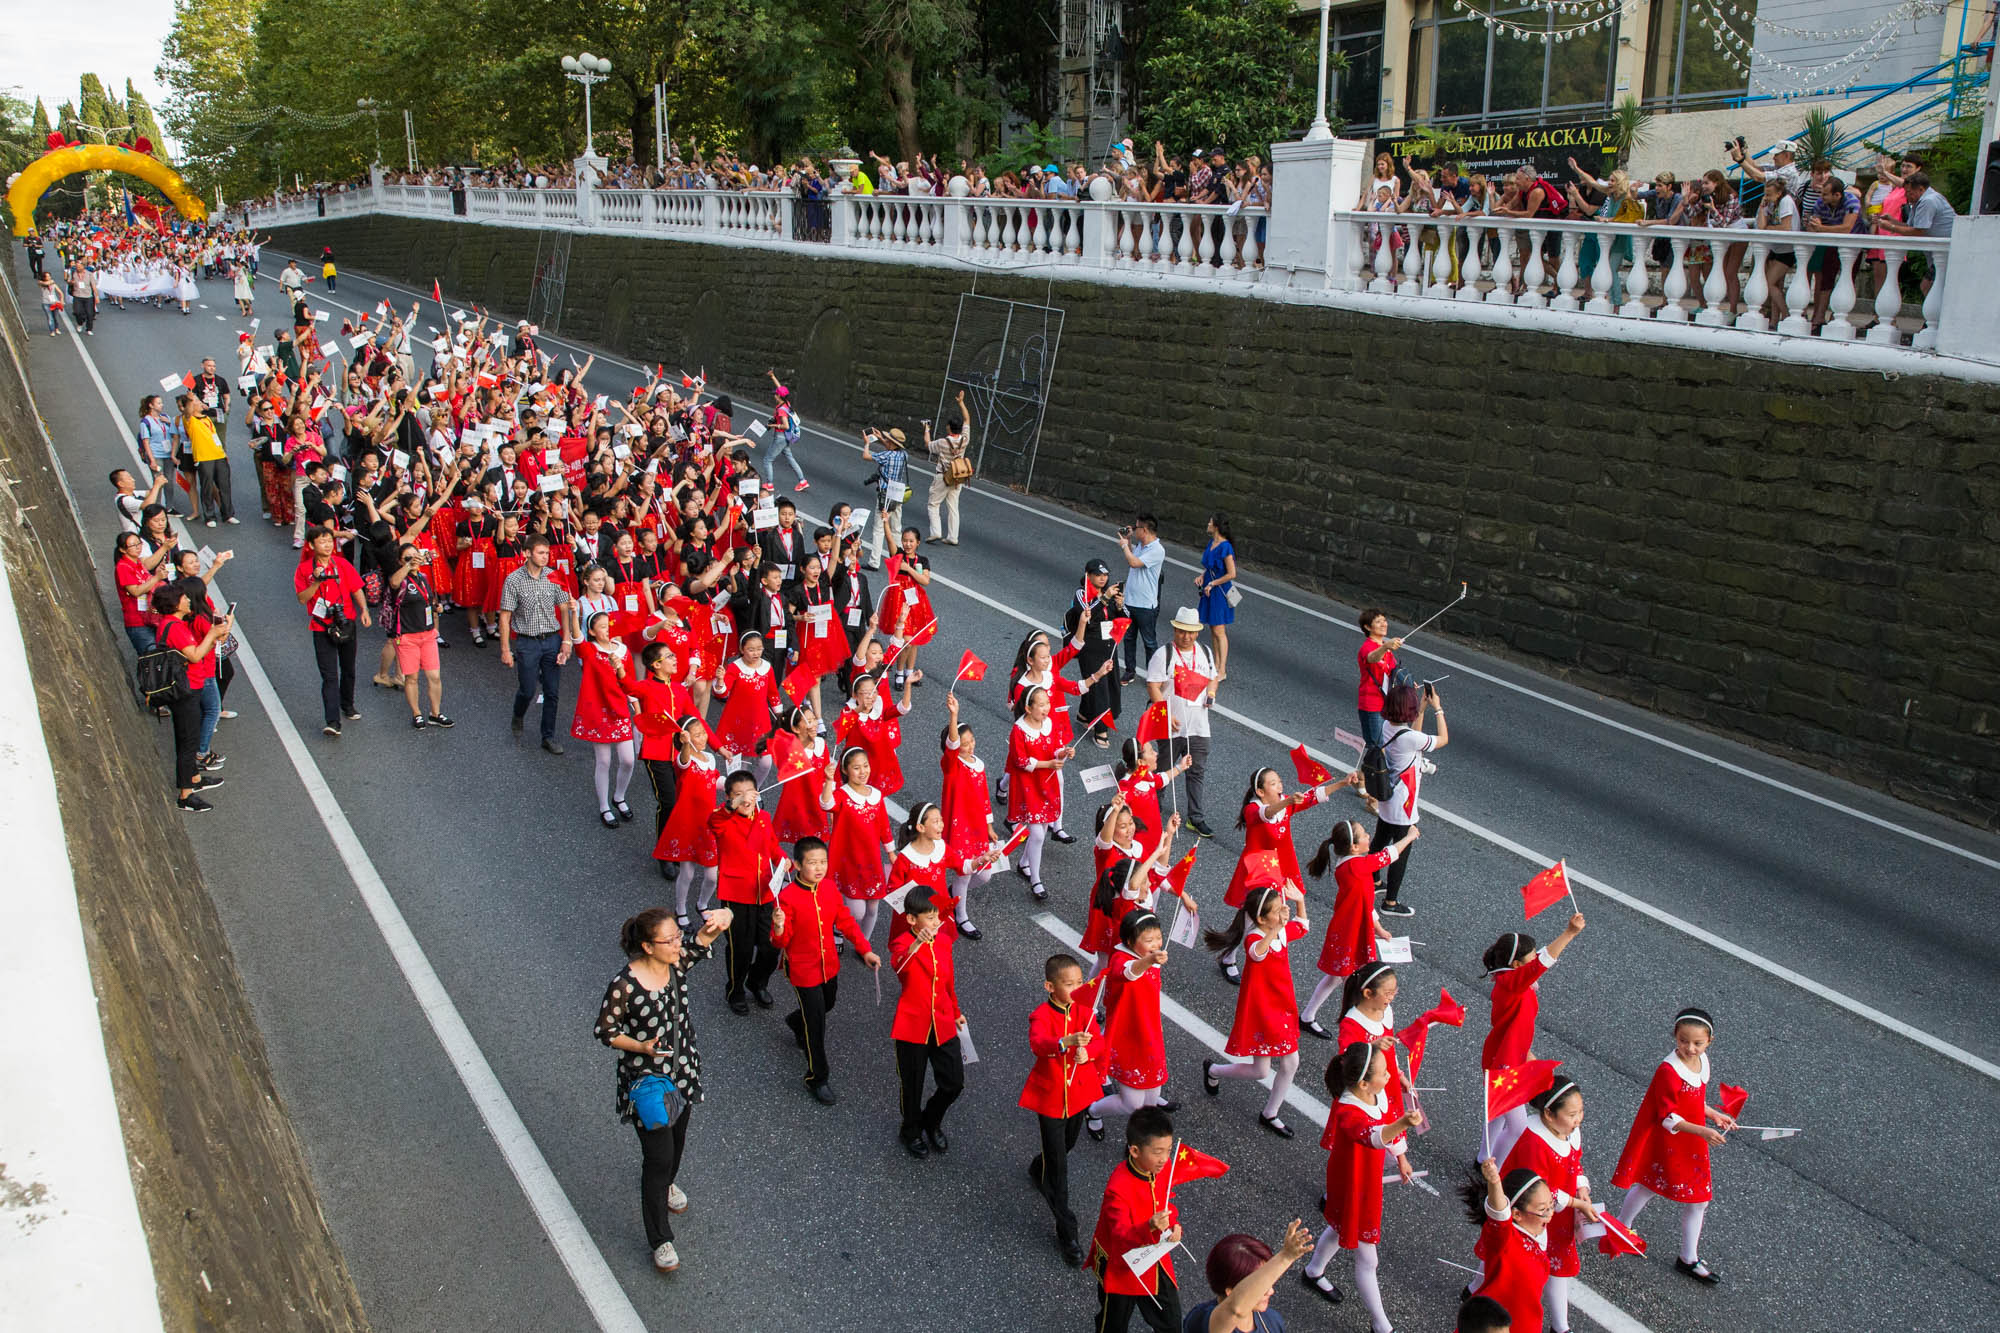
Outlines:
[[[322, 208], [324, 204], [324, 208]], [[512, 190], [382, 184], [248, 210], [252, 226], [390, 212], [502, 226], [832, 246], [918, 262], [1068, 266], [1224, 284], [1264, 280], [1266, 210], [734, 190]], [[1330, 214], [1326, 286], [1410, 302], [1588, 314], [1932, 350], [1950, 240], [1602, 220]], [[1316, 278], [1314, 278], [1316, 282]], [[1296, 286], [1296, 276], [1288, 276]], [[1906, 290], [1908, 288], [1908, 290]], [[1542, 314], [1532, 316], [1542, 318]], [[1568, 322], [1588, 332], [1592, 324]]]

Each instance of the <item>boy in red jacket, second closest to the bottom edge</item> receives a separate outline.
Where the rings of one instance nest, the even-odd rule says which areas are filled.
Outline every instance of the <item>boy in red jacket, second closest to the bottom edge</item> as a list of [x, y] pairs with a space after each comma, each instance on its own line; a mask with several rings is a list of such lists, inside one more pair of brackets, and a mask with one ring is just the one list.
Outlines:
[[[1070, 1149], [1084, 1127], [1090, 1103], [1104, 1089], [1104, 1029], [1094, 1011], [1098, 983], [1084, 983], [1084, 965], [1058, 953], [1042, 965], [1042, 989], [1048, 1003], [1036, 1005], [1028, 1017], [1028, 1049], [1034, 1067], [1020, 1089], [1020, 1105], [1034, 1111], [1042, 1129], [1042, 1151], [1028, 1163], [1048, 1211], [1056, 1215], [1056, 1245], [1074, 1269], [1084, 1267], [1084, 1247], [1076, 1239], [1076, 1213], [1070, 1211]], [[1104, 1123], [1090, 1129], [1104, 1137]]]

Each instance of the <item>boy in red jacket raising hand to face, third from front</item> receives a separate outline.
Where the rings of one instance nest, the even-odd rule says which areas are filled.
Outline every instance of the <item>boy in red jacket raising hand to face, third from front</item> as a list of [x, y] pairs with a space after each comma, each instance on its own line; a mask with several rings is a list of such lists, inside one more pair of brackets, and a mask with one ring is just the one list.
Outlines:
[[[890, 939], [888, 957], [902, 979], [896, 999], [896, 1081], [902, 1085], [902, 1147], [910, 1157], [930, 1157], [950, 1147], [944, 1135], [944, 1113], [966, 1091], [964, 1047], [958, 1031], [966, 1025], [958, 1013], [958, 981], [952, 971], [952, 941], [958, 927], [938, 913], [930, 889], [918, 885], [902, 901], [908, 935]], [[938, 1091], [924, 1101], [924, 1069], [938, 1081]]]

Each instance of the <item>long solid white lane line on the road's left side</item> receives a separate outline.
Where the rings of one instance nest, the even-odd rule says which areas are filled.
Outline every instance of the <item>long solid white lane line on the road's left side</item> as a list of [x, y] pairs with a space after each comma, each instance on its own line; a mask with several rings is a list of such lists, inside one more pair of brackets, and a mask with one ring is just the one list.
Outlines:
[[[112, 400], [112, 392], [104, 384], [104, 376], [98, 374], [96, 360], [92, 360], [88, 348], [74, 338], [74, 324], [70, 332], [76, 350], [84, 358], [84, 370], [90, 372], [90, 380], [98, 386], [98, 396], [104, 398], [104, 410], [110, 412], [112, 422], [118, 426], [118, 434], [124, 438], [126, 450], [132, 454], [132, 466], [144, 468], [146, 464], [140, 458], [138, 440], [132, 436], [132, 428], [118, 412], [118, 404]], [[184, 526], [180, 534], [188, 540], [188, 544], [200, 544], [188, 536]], [[216, 596], [222, 596], [220, 586], [216, 586]], [[638, 1311], [632, 1307], [632, 1299], [626, 1295], [624, 1287], [618, 1285], [618, 1279], [612, 1277], [610, 1265], [604, 1263], [604, 1253], [598, 1249], [596, 1241], [590, 1239], [590, 1231], [584, 1229], [584, 1221], [576, 1215], [576, 1207], [570, 1203], [570, 1197], [562, 1193], [562, 1183], [556, 1179], [556, 1173], [550, 1171], [548, 1159], [542, 1157], [542, 1149], [534, 1143], [534, 1135], [528, 1133], [528, 1125], [522, 1123], [514, 1103], [508, 1101], [506, 1089], [500, 1087], [498, 1075], [494, 1075], [492, 1065], [486, 1061], [486, 1053], [480, 1051], [480, 1043], [472, 1037], [472, 1029], [466, 1027], [458, 1007], [452, 1005], [452, 997], [444, 989], [444, 981], [438, 979], [438, 971], [424, 955], [424, 947], [416, 943], [416, 933], [412, 933], [410, 923], [404, 921], [402, 909], [396, 907], [394, 895], [390, 895], [388, 885], [384, 885], [382, 877], [376, 873], [374, 861], [368, 857], [368, 849], [362, 847], [360, 837], [354, 833], [354, 825], [348, 823], [346, 811], [340, 809], [338, 797], [334, 797], [332, 787], [328, 787], [326, 775], [320, 773], [318, 761], [312, 759], [304, 739], [298, 735], [298, 727], [292, 725], [292, 715], [284, 711], [284, 701], [278, 697], [278, 689], [272, 685], [262, 662], [258, 662], [256, 652], [250, 648], [250, 636], [238, 628], [236, 640], [242, 644], [236, 652], [236, 660], [250, 679], [250, 687], [256, 691], [258, 703], [264, 705], [264, 713], [270, 717], [270, 725], [278, 733], [278, 741], [284, 745], [286, 757], [292, 761], [292, 771], [298, 773], [300, 785], [306, 789], [306, 795], [312, 797], [312, 807], [320, 815], [320, 825], [326, 827], [326, 837], [334, 841], [334, 849], [340, 853], [340, 861], [346, 865], [348, 877], [354, 881], [354, 889], [360, 893], [362, 903], [366, 903], [368, 915], [374, 917], [376, 929], [382, 933], [382, 941], [396, 959], [396, 967], [402, 971], [404, 981], [410, 983], [410, 993], [424, 1011], [430, 1031], [436, 1033], [438, 1045], [442, 1045], [444, 1053], [450, 1057], [460, 1085], [464, 1085], [466, 1095], [472, 1097], [474, 1109], [478, 1109], [480, 1119], [486, 1123], [486, 1131], [494, 1137], [494, 1143], [500, 1145], [500, 1155], [506, 1159], [508, 1169], [520, 1183], [520, 1191], [528, 1197], [528, 1205], [534, 1209], [536, 1221], [542, 1223], [542, 1231], [562, 1257], [562, 1267], [570, 1271], [570, 1281], [576, 1283], [576, 1291], [582, 1293], [584, 1303], [590, 1307], [592, 1317], [604, 1333], [646, 1333], [646, 1321], [638, 1317]]]

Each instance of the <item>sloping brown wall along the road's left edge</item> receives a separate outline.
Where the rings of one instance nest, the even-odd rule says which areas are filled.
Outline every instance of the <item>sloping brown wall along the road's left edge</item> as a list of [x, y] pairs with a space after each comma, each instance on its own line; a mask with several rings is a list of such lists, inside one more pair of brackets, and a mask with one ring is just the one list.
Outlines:
[[[0, 262], [14, 272], [12, 246], [0, 248]], [[366, 1329], [174, 811], [172, 773], [156, 747], [164, 723], [132, 695], [130, 648], [106, 614], [36, 420], [6, 280], [0, 320], [10, 342], [0, 346], [6, 572], [56, 773], [162, 1323], [174, 1333]], [[86, 486], [102, 494], [104, 478]], [[6, 1015], [8, 1025], [34, 1021], [32, 1011]]]

